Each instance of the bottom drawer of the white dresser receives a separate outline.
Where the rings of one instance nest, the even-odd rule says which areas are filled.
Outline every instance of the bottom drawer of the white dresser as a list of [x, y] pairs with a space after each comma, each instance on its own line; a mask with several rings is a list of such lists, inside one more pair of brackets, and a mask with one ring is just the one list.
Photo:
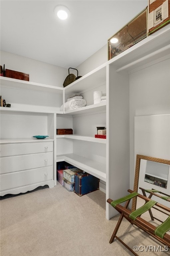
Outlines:
[[53, 167], [25, 170], [0, 175], [1, 191], [53, 179]]

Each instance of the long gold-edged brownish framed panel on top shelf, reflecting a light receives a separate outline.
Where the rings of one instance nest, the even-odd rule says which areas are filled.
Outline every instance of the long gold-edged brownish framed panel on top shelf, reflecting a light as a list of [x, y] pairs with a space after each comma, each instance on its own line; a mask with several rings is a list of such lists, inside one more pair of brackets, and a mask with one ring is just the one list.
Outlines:
[[147, 37], [147, 7], [108, 39], [108, 60], [138, 43], [145, 37]]

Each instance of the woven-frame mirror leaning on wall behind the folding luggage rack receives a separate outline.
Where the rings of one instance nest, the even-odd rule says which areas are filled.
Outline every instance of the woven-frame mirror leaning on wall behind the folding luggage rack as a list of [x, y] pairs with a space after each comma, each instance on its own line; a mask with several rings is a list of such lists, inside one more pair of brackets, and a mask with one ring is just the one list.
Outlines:
[[[170, 160], [136, 155], [133, 190], [142, 194], [139, 187], [158, 190], [165, 196], [170, 195]], [[133, 198], [132, 210], [135, 209], [136, 198]]]

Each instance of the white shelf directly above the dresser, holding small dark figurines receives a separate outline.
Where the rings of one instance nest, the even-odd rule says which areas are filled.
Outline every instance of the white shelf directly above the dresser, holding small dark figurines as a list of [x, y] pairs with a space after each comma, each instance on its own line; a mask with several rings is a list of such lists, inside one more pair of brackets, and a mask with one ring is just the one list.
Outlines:
[[0, 107], [1, 112], [29, 112], [29, 113], [42, 113], [42, 114], [63, 114], [62, 111], [57, 111], [56, 109], [47, 109], [47, 108], [7, 108]]

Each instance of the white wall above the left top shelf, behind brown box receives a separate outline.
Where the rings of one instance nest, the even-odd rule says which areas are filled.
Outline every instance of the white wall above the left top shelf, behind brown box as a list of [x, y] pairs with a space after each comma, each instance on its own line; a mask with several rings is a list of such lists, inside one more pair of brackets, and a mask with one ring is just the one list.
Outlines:
[[63, 82], [68, 75], [66, 68], [4, 51], [0, 51], [0, 63], [1, 66], [5, 64], [6, 69], [28, 73], [30, 82], [63, 87]]

